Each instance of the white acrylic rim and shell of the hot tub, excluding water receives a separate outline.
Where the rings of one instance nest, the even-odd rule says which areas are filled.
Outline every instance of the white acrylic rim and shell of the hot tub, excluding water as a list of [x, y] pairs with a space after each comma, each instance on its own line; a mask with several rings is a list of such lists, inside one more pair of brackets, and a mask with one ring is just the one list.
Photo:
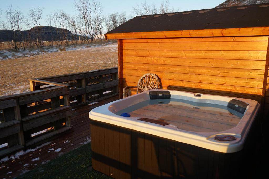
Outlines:
[[[154, 89], [150, 91], [156, 91], [162, 89]], [[165, 126], [161, 126], [154, 123], [148, 123], [141, 120], [137, 120], [137, 117], [126, 118], [114, 114], [114, 112], [126, 108], [130, 105], [137, 104], [139, 102], [149, 100], [149, 91], [142, 92], [127, 98], [123, 98], [100, 107], [94, 108], [89, 112], [89, 118], [128, 129], [141, 131], [144, 133], [152, 134], [159, 137], [168, 138], [171, 140], [179, 141], [186, 144], [203, 147], [218, 152], [238, 152], [243, 148], [243, 144], [246, 140], [249, 129], [256, 117], [260, 104], [257, 101], [243, 99], [243, 98], [232, 98], [217, 95], [203, 94], [201, 97], [195, 97], [196, 93], [181, 92], [169, 90], [171, 98], [177, 98], [177, 96], [192, 97], [193, 101], [206, 100], [210, 103], [211, 100], [223, 101], [221, 105], [227, 105], [232, 99], [237, 99], [248, 103], [248, 107], [244, 113], [243, 118], [240, 120], [237, 126], [232, 129], [221, 131], [221, 132], [194, 132], [186, 130], [175, 130]], [[222, 103], [222, 102], [221, 102]], [[233, 141], [216, 141], [214, 136], [228, 134], [235, 136], [237, 139]]]

